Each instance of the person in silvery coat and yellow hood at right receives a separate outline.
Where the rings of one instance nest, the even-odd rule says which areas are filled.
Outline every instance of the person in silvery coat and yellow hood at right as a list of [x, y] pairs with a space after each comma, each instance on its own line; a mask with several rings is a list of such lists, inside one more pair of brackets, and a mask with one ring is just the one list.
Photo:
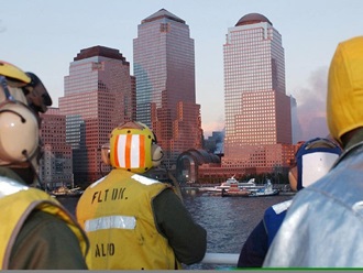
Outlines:
[[363, 36], [338, 44], [327, 121], [343, 153], [293, 199], [264, 261], [268, 267], [363, 267]]

